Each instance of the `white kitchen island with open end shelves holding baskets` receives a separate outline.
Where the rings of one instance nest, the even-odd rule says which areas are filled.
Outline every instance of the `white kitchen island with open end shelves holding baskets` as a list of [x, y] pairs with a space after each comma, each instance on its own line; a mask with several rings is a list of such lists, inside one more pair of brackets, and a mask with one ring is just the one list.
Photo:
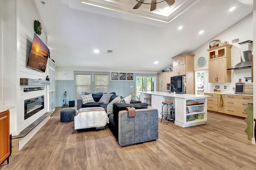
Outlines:
[[[207, 121], [207, 95], [192, 94], [169, 94], [166, 92], [141, 92], [140, 100], [151, 98], [152, 107], [158, 109], [159, 117], [162, 118], [162, 101], [173, 102], [175, 111], [174, 124], [180, 127], [203, 125]], [[166, 107], [164, 107], [166, 109]], [[169, 109], [168, 109], [169, 110]], [[166, 110], [164, 110], [165, 112]]]

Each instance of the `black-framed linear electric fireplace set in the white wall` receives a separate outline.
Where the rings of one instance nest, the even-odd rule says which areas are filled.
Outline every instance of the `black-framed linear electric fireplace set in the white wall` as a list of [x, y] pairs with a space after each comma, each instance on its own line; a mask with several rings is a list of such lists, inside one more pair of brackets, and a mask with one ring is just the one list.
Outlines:
[[38, 96], [24, 101], [24, 120], [44, 109], [44, 96]]

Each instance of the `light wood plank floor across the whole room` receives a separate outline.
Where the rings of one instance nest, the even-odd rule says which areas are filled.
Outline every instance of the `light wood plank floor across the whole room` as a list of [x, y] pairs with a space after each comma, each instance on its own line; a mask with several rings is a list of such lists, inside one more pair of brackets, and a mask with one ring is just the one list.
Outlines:
[[61, 123], [62, 109], [0, 169], [256, 169], [256, 145], [247, 139], [242, 119], [208, 113], [206, 125], [187, 128], [159, 119], [158, 140], [121, 148], [108, 128], [76, 132], [74, 122]]

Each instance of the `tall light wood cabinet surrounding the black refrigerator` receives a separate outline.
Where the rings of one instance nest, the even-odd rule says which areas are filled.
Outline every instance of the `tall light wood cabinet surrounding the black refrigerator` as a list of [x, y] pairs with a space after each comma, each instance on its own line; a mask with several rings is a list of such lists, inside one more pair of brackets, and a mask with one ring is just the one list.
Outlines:
[[186, 75], [186, 94], [194, 94], [194, 54], [172, 57], [174, 76]]

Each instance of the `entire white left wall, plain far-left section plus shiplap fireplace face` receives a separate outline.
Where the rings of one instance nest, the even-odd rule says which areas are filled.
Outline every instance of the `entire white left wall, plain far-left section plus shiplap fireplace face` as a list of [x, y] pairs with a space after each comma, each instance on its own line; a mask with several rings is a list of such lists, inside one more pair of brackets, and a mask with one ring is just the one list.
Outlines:
[[[1, 0], [0, 12], [0, 107], [12, 107], [10, 133], [16, 136], [46, 112], [45, 105], [45, 109], [24, 120], [24, 100], [40, 95], [46, 99], [46, 90], [25, 93], [20, 86], [20, 78], [46, 77], [46, 73], [26, 67], [34, 36], [34, 20], [39, 20], [40, 16], [32, 0]], [[40, 39], [46, 43], [44, 32]]]

